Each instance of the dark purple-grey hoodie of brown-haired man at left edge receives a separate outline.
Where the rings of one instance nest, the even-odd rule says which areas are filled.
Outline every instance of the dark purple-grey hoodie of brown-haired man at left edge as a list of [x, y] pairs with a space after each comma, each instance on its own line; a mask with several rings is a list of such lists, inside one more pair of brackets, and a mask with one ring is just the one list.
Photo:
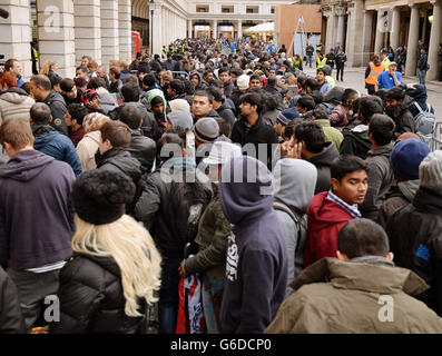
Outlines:
[[73, 229], [69, 165], [37, 150], [0, 167], [0, 264], [42, 267], [68, 258]]

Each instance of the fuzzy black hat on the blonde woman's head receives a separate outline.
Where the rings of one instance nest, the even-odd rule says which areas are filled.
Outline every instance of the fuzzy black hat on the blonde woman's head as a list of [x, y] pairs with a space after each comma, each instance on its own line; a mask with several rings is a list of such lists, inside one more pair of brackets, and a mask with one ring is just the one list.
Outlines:
[[134, 196], [135, 185], [130, 178], [100, 169], [87, 170], [79, 176], [71, 192], [77, 215], [94, 225], [118, 220]]

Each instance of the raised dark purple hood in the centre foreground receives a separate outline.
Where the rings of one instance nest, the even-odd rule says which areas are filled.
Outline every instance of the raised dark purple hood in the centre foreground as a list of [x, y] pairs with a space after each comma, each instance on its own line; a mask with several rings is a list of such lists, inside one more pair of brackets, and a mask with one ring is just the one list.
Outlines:
[[219, 179], [219, 201], [232, 224], [256, 219], [273, 209], [274, 181], [267, 167], [248, 156], [227, 162]]

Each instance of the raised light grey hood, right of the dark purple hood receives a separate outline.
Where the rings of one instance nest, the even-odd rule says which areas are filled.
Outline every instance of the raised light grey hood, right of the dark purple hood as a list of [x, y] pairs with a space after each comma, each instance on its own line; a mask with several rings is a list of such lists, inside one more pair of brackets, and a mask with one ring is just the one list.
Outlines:
[[273, 169], [275, 200], [305, 212], [315, 194], [317, 170], [303, 159], [283, 158]]

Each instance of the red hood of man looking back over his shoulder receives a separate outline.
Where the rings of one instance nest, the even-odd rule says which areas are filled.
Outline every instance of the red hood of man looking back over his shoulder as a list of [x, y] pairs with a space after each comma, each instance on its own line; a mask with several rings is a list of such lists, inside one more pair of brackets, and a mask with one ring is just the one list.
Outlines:
[[308, 206], [308, 215], [315, 220], [315, 228], [321, 229], [353, 219], [353, 216], [337, 202], [327, 199], [328, 191], [315, 195]]

